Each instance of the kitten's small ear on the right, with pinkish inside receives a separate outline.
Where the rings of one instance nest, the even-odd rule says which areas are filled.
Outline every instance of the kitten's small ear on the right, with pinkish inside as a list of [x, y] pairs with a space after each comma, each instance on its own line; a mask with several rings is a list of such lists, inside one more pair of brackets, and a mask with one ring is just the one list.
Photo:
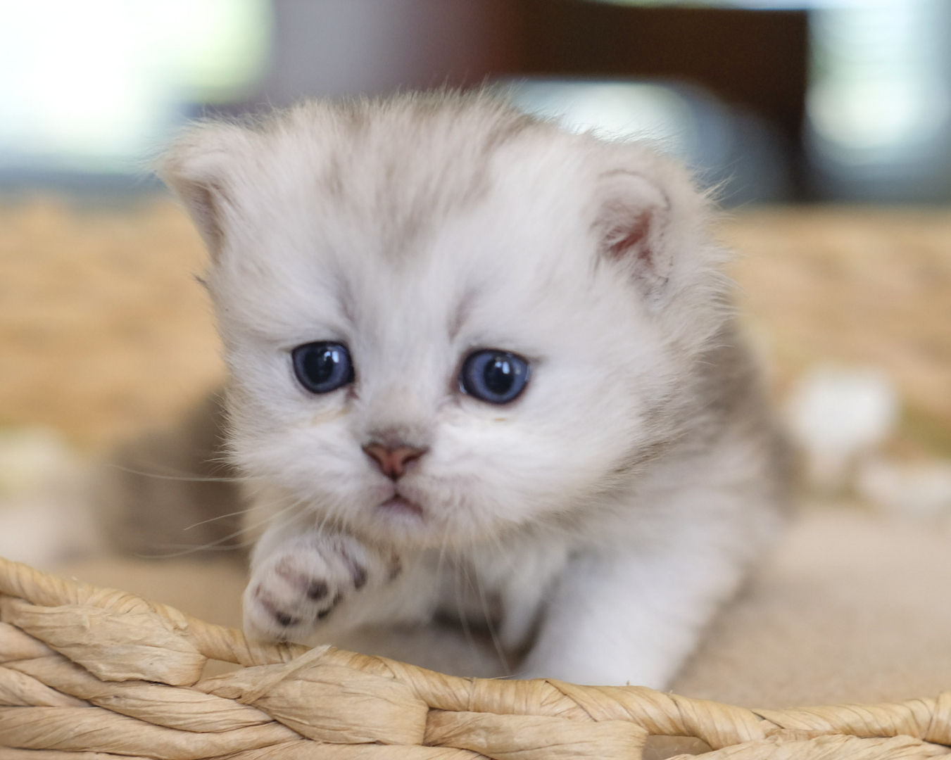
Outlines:
[[647, 290], [662, 287], [670, 275], [666, 231], [670, 200], [646, 177], [626, 170], [602, 177], [595, 229], [600, 253], [625, 263]]

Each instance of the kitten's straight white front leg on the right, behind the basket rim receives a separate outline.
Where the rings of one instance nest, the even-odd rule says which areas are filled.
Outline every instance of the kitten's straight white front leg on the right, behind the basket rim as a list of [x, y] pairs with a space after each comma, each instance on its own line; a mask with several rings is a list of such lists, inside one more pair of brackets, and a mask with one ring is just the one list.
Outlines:
[[743, 562], [710, 548], [577, 555], [556, 581], [519, 677], [665, 689]]

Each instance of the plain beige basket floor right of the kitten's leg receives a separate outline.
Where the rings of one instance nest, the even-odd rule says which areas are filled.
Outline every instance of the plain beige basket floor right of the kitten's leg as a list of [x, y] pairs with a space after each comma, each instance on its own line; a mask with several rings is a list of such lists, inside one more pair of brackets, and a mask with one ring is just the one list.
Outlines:
[[674, 691], [757, 707], [951, 688], [951, 527], [806, 512]]

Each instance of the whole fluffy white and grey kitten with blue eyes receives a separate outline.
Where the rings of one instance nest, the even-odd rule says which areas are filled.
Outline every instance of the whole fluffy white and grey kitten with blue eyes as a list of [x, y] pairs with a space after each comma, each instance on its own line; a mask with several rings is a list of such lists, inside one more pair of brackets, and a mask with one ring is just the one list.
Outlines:
[[685, 172], [441, 92], [206, 123], [160, 173], [211, 254], [247, 633], [481, 616], [520, 676], [663, 688], [783, 494]]

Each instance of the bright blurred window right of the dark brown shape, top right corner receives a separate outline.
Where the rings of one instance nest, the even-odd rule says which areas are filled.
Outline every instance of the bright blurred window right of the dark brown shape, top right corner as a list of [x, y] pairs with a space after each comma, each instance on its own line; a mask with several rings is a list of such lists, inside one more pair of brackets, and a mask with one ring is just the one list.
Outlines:
[[810, 146], [830, 180], [874, 184], [919, 175], [918, 184], [927, 185], [927, 175], [944, 173], [951, 4], [879, 0], [831, 7], [813, 12], [810, 27]]

